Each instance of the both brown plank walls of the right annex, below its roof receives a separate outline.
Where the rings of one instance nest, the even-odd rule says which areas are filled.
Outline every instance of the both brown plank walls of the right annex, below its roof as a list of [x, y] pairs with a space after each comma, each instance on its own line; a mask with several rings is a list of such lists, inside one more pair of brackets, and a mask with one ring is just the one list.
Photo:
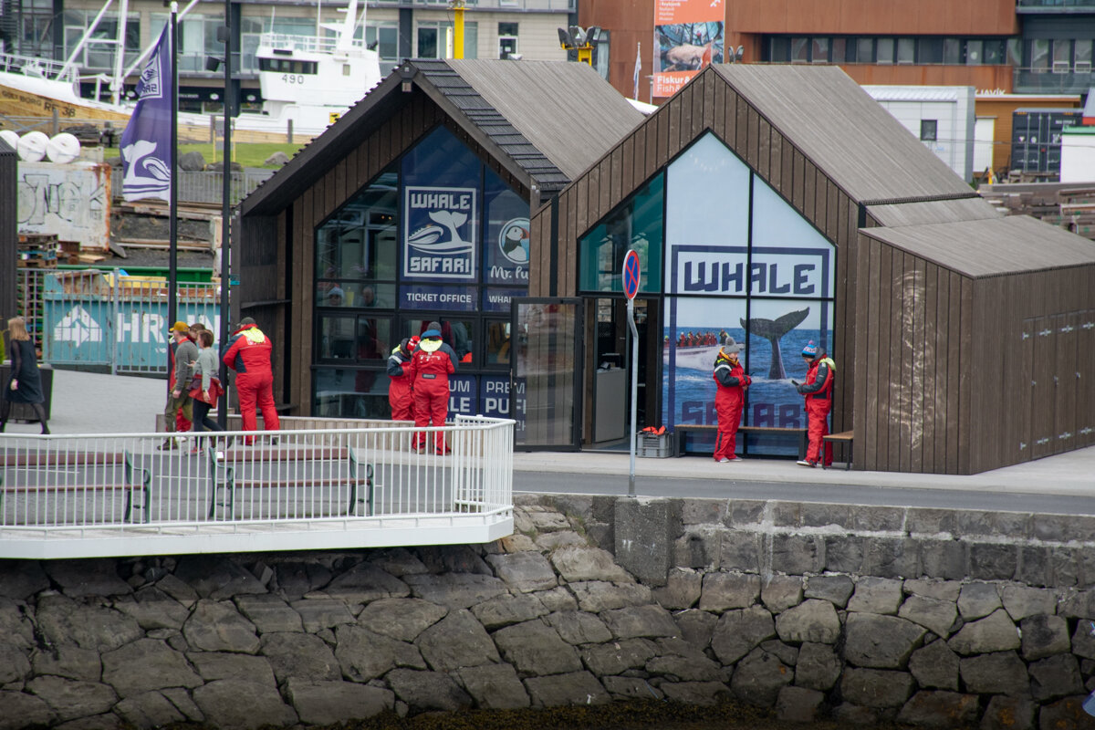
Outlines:
[[856, 466], [976, 474], [1095, 443], [1095, 266], [970, 279], [860, 251]]

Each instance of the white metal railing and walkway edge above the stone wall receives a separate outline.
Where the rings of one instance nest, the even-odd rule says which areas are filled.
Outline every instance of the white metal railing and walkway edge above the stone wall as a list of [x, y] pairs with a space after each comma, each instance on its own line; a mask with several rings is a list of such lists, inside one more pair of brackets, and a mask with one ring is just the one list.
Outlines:
[[[434, 453], [437, 432], [451, 453]], [[412, 449], [416, 433], [428, 450]], [[487, 542], [512, 531], [512, 444], [514, 421], [463, 416], [422, 430], [3, 434], [0, 557]]]

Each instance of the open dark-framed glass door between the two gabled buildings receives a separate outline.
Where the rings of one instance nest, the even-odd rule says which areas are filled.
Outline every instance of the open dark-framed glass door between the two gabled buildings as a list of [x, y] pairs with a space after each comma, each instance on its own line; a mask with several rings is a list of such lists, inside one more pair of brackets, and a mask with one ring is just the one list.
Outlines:
[[577, 450], [580, 439], [580, 299], [515, 297], [509, 397], [515, 445]]

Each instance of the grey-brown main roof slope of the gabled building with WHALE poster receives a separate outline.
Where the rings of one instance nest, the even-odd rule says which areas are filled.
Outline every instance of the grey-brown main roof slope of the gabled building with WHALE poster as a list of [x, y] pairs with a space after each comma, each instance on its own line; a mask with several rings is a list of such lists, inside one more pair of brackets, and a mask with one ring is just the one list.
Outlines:
[[969, 193], [946, 163], [835, 66], [713, 68], [856, 200]]

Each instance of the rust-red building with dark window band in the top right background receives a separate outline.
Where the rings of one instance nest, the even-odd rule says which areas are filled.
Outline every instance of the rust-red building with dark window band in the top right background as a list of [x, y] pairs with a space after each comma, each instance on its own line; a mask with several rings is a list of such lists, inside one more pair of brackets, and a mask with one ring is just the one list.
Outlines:
[[[626, 94], [639, 48], [643, 101], [657, 102], [647, 97], [647, 77], [659, 68], [655, 13], [661, 4], [578, 3], [581, 25], [611, 33], [609, 80]], [[834, 63], [861, 84], [1042, 95], [1095, 85], [1095, 0], [739, 0], [725, 3], [721, 26], [716, 46], [742, 46], [745, 62]]]

